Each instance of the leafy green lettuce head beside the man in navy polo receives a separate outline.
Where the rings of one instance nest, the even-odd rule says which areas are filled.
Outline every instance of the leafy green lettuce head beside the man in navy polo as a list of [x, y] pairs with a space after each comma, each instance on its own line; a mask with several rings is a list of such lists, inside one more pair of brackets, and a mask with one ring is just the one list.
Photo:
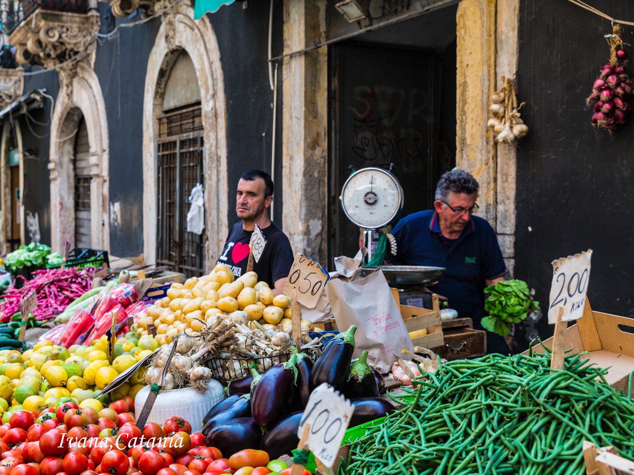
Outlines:
[[484, 289], [484, 292], [490, 294], [484, 301], [484, 310], [489, 312], [489, 316], [481, 320], [482, 326], [501, 336], [510, 333], [509, 323], [521, 322], [529, 309], [537, 310], [540, 307], [539, 302], [531, 300], [526, 282], [518, 279], [498, 282]]

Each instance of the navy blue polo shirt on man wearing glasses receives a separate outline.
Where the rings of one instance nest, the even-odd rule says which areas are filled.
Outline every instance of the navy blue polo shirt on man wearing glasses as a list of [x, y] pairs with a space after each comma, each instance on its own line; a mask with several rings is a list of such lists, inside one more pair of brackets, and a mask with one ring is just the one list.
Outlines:
[[[458, 318], [469, 317], [481, 328], [484, 310], [484, 279], [503, 276], [507, 269], [498, 238], [487, 220], [472, 216], [455, 240], [444, 238], [434, 210], [401, 219], [392, 235], [396, 238], [396, 261], [402, 265], [445, 267], [433, 291], [449, 300]], [[490, 352], [490, 350], [489, 350]]]

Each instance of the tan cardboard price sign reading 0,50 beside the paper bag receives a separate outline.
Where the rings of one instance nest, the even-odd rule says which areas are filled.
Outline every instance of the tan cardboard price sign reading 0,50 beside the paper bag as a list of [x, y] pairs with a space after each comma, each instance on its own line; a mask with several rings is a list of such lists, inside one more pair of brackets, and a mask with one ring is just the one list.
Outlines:
[[328, 271], [321, 267], [319, 262], [303, 254], [297, 254], [290, 268], [283, 293], [290, 296], [291, 289], [295, 289], [299, 303], [308, 308], [315, 308], [328, 279], [330, 279]]

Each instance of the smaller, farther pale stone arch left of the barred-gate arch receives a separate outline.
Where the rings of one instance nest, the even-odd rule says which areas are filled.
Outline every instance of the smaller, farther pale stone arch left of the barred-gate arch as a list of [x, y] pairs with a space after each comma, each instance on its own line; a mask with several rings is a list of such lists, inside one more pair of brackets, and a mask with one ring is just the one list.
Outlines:
[[74, 157], [75, 134], [84, 117], [90, 143], [91, 243], [110, 250], [108, 218], [109, 142], [106, 106], [101, 86], [89, 63], [60, 72], [50, 141], [51, 248], [63, 252], [66, 241], [75, 241]]

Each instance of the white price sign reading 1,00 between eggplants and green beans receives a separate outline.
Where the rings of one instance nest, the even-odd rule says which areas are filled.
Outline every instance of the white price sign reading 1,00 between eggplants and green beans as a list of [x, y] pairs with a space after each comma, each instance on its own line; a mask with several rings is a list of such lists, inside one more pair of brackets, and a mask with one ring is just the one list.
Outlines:
[[308, 399], [297, 437], [301, 440], [304, 427], [309, 424], [305, 445], [322, 464], [332, 467], [353, 412], [349, 400], [335, 393], [332, 386], [322, 383]]

